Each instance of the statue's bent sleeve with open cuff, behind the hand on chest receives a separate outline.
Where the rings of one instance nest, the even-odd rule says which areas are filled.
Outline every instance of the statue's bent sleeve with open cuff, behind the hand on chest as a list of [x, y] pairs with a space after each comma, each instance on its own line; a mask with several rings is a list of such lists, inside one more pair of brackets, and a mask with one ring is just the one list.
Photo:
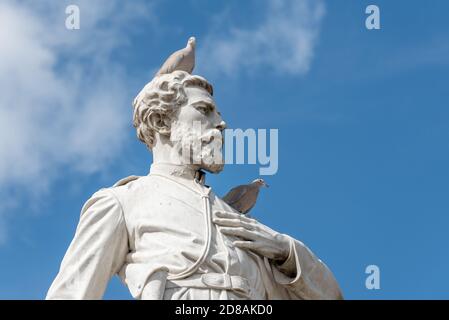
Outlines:
[[[289, 236], [288, 236], [289, 237]], [[274, 280], [291, 298], [343, 299], [329, 268], [301, 241], [290, 239], [290, 253], [282, 264], [274, 264]]]

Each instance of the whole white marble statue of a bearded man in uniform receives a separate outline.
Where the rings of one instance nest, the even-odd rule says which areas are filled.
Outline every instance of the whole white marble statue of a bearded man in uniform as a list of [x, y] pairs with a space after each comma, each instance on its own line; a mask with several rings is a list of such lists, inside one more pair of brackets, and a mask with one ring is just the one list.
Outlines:
[[226, 123], [206, 79], [185, 62], [169, 69], [133, 103], [149, 174], [87, 200], [46, 298], [101, 299], [118, 275], [135, 299], [341, 299], [301, 241], [240, 214], [205, 183], [205, 172], [224, 167]]

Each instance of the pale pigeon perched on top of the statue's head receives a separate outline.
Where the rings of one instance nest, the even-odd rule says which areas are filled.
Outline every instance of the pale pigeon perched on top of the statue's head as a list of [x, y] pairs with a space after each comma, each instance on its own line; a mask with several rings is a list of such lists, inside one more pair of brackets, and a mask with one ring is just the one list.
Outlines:
[[156, 76], [172, 73], [176, 70], [192, 74], [193, 68], [195, 68], [195, 37], [190, 37], [187, 46], [172, 53], [156, 73]]

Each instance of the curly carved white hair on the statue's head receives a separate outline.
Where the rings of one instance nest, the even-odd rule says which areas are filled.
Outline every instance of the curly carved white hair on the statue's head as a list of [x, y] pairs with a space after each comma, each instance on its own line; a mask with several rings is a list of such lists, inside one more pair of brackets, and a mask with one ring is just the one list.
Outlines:
[[155, 128], [150, 118], [154, 113], [170, 117], [187, 102], [186, 87], [202, 87], [213, 95], [213, 87], [206, 79], [190, 75], [185, 71], [174, 71], [156, 76], [149, 82], [133, 102], [133, 125], [137, 137], [148, 149], [154, 146]]

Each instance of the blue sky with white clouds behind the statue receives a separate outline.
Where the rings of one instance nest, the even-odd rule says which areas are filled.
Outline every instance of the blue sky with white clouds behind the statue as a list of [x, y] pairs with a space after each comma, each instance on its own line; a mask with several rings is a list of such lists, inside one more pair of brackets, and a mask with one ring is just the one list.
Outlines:
[[[65, 28], [68, 4], [80, 30]], [[381, 29], [365, 28], [376, 4]], [[197, 37], [230, 128], [279, 129], [254, 215], [305, 242], [349, 299], [449, 298], [449, 3], [2, 1], [0, 298], [42, 299], [97, 189], [145, 175], [131, 101]], [[231, 54], [223, 54], [226, 48]], [[218, 194], [258, 176], [228, 165]], [[378, 265], [381, 289], [367, 290]], [[118, 279], [108, 299], [128, 299]]]

